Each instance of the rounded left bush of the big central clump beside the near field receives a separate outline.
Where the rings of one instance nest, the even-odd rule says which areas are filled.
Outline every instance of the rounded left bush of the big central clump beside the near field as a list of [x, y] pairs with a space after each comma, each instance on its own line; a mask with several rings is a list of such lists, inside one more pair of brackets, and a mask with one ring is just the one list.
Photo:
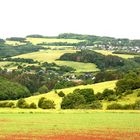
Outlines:
[[86, 100], [83, 95], [79, 93], [70, 93], [62, 99], [62, 109], [75, 109], [78, 106], [85, 104]]

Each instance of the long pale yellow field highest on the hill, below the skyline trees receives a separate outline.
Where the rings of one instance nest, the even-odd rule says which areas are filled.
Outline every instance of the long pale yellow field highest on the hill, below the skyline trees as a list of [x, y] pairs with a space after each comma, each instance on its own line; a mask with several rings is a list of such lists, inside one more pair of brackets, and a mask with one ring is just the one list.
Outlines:
[[83, 42], [84, 40], [78, 39], [57, 39], [57, 38], [27, 38], [27, 41], [30, 41], [33, 44], [39, 43], [54, 43], [54, 42], [67, 42], [67, 43], [78, 43]]

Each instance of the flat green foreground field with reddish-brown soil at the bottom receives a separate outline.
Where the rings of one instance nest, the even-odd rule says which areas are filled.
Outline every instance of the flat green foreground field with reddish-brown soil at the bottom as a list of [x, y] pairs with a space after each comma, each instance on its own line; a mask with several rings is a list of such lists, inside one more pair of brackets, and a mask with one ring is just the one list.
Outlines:
[[140, 139], [139, 112], [1, 113], [0, 124], [1, 140]]

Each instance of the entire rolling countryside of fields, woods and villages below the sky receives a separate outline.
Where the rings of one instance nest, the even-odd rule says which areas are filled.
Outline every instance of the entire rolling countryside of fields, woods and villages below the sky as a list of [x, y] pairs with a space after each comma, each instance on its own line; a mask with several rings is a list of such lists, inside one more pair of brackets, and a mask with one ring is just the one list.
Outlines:
[[140, 140], [140, 40], [0, 39], [0, 124], [0, 140]]

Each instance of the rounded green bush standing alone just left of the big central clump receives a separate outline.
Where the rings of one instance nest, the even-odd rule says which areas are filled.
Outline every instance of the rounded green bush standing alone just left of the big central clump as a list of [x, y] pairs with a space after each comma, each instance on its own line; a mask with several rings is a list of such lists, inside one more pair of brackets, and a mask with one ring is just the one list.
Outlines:
[[42, 97], [38, 101], [38, 107], [42, 109], [55, 109], [54, 101], [47, 100], [45, 97]]

